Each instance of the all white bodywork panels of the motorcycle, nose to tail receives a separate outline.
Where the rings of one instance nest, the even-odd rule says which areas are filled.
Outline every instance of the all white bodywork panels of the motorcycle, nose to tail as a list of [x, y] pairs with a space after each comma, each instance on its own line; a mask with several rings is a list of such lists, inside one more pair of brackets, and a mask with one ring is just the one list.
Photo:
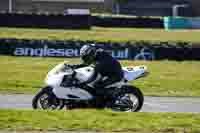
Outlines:
[[[144, 76], [147, 71], [146, 66], [129, 66], [123, 67], [124, 71], [124, 78], [128, 81], [135, 80]], [[55, 69], [54, 69], [55, 70]], [[93, 67], [83, 67], [75, 70], [76, 75], [75, 78], [78, 79], [81, 83], [86, 82], [93, 76], [94, 68]], [[62, 87], [61, 83], [63, 81], [63, 77], [65, 75], [71, 75], [71, 71], [66, 72], [51, 72], [46, 77], [46, 84], [53, 88], [54, 94], [60, 99], [76, 99], [76, 100], [89, 100], [92, 99], [93, 96], [84, 89], [79, 87]], [[106, 88], [109, 87], [120, 87], [125, 85], [124, 81], [120, 81], [111, 85], [108, 85]]]

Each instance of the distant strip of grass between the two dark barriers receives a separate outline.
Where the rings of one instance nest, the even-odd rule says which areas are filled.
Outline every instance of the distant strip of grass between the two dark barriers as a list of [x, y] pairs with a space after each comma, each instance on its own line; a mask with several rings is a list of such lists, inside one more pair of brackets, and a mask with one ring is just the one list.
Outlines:
[[92, 41], [186, 41], [200, 42], [200, 30], [100, 28], [92, 30], [48, 30], [31, 28], [0, 28], [0, 38], [92, 40]]

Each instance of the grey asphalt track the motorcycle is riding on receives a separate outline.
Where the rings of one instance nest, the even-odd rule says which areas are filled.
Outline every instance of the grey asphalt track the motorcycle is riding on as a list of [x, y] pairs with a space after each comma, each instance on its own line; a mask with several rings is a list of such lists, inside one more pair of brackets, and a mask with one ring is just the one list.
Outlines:
[[[1, 109], [31, 109], [33, 95], [0, 94]], [[200, 113], [200, 97], [145, 97], [141, 112]]]

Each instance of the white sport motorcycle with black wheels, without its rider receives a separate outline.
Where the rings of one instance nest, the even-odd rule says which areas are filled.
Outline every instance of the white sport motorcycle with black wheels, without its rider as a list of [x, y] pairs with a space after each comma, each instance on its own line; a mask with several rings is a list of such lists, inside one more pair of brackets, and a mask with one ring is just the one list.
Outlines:
[[143, 106], [142, 92], [128, 81], [146, 76], [146, 66], [123, 67], [124, 78], [102, 88], [105, 95], [97, 94], [93, 83], [86, 83], [95, 73], [93, 67], [63, 68], [64, 64], [59, 64], [48, 72], [45, 87], [32, 100], [34, 109], [109, 108], [137, 112]]

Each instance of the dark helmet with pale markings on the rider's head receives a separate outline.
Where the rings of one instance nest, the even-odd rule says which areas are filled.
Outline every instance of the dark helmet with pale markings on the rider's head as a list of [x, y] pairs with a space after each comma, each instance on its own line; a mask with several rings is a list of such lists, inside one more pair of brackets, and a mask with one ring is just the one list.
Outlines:
[[95, 44], [84, 45], [80, 49], [80, 57], [83, 60], [84, 64], [91, 64], [95, 60], [96, 48]]

